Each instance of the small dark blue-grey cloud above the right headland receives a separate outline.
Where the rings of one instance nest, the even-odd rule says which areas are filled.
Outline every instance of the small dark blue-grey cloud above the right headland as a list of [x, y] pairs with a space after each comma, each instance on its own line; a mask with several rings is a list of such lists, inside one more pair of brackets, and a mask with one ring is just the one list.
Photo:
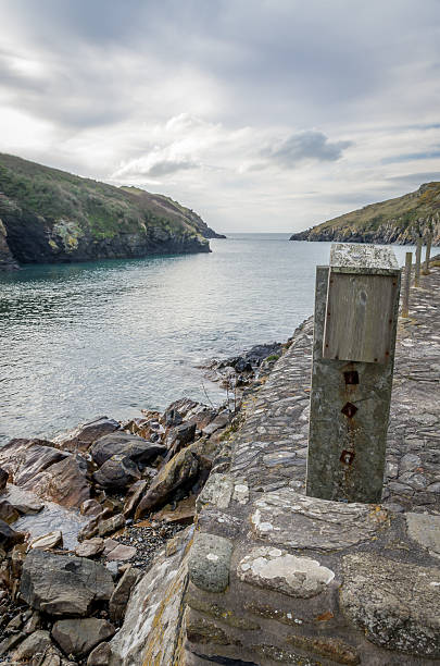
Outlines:
[[292, 134], [277, 146], [263, 149], [262, 157], [285, 169], [294, 169], [304, 160], [335, 162], [352, 141], [330, 141], [322, 132], [309, 131]]

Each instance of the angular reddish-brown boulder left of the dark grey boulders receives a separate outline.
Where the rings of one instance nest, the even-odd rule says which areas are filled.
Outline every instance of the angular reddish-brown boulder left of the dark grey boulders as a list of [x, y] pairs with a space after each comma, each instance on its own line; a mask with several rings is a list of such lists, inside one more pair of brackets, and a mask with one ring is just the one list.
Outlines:
[[68, 455], [22, 484], [22, 488], [66, 508], [79, 508], [83, 502], [90, 498], [87, 472], [87, 460], [78, 455]]

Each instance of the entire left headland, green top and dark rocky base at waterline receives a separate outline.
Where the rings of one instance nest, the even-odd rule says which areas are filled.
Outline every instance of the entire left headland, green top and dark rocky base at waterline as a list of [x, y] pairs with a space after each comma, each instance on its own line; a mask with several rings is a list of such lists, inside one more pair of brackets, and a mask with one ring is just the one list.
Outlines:
[[0, 153], [0, 269], [153, 254], [209, 252], [217, 237], [161, 195], [113, 187]]

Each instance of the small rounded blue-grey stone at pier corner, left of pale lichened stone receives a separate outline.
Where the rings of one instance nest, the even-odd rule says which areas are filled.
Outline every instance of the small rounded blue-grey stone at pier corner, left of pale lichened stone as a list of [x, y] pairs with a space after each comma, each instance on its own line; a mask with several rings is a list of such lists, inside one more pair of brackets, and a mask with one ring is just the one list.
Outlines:
[[208, 592], [223, 592], [229, 583], [232, 542], [224, 536], [199, 532], [189, 559], [190, 580]]

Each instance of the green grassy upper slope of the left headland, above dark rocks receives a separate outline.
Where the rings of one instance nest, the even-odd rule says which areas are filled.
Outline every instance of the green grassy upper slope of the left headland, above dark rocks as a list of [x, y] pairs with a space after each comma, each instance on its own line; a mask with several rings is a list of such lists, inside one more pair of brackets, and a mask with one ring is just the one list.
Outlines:
[[73, 221], [97, 239], [144, 233], [149, 226], [176, 235], [197, 235], [204, 224], [191, 210], [166, 197], [113, 187], [3, 153], [0, 193], [5, 195], [0, 197], [0, 214], [20, 207], [53, 222]]

